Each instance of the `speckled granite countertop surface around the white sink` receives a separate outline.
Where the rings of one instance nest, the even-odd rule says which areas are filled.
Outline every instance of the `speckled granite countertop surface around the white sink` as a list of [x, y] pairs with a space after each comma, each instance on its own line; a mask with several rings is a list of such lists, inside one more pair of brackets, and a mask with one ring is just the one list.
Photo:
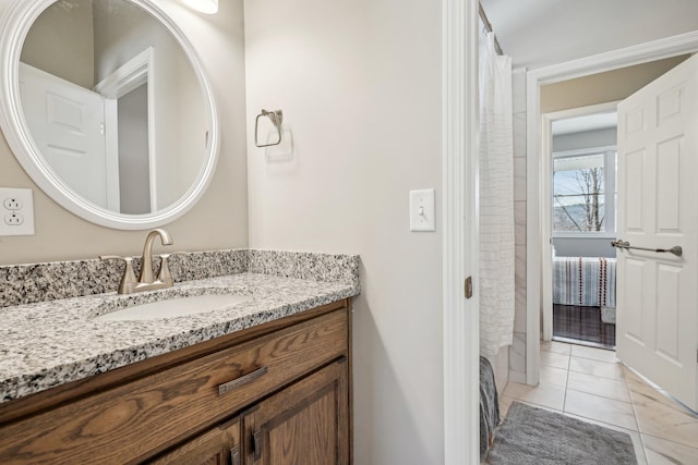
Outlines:
[[[196, 294], [202, 287], [252, 298], [221, 310], [174, 318], [95, 320], [127, 301], [133, 305], [159, 299], [158, 294], [167, 292]], [[358, 293], [351, 282], [240, 272], [129, 296], [106, 293], [0, 308], [0, 403]]]

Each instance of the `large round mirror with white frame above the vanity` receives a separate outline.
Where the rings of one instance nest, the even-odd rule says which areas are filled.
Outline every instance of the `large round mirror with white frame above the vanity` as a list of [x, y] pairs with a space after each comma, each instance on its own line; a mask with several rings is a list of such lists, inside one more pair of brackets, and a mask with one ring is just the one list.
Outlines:
[[148, 229], [186, 212], [218, 154], [209, 84], [151, 0], [13, 0], [0, 118], [32, 180], [73, 213]]

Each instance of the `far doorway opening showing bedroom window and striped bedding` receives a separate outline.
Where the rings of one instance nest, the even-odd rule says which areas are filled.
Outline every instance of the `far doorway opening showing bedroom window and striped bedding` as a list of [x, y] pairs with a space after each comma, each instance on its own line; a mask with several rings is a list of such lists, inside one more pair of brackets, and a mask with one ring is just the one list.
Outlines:
[[[615, 103], [544, 115], [552, 340], [615, 348]], [[547, 321], [552, 319], [552, 323]], [[545, 339], [550, 341], [551, 339]]]

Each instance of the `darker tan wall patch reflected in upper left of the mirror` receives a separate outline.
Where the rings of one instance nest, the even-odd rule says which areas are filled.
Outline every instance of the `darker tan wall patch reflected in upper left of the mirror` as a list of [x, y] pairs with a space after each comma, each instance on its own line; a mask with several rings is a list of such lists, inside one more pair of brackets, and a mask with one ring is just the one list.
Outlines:
[[92, 17], [92, 0], [73, 0], [71, 8], [48, 8], [29, 29], [21, 60], [92, 89], [95, 84]]

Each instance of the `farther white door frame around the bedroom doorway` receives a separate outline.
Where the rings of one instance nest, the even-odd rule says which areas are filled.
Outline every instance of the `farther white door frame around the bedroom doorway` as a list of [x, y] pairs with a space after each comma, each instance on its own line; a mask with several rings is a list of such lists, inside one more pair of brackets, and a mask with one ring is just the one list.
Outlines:
[[[618, 101], [592, 105], [588, 107], [571, 108], [569, 110], [554, 111], [541, 115], [541, 303], [543, 306], [543, 341], [550, 341], [553, 336], [553, 123], [568, 118], [583, 117], [597, 113], [610, 113], [615, 111]], [[615, 237], [614, 237], [615, 238]], [[547, 244], [547, 245], [545, 245]], [[549, 266], [545, 266], [547, 264]]]

